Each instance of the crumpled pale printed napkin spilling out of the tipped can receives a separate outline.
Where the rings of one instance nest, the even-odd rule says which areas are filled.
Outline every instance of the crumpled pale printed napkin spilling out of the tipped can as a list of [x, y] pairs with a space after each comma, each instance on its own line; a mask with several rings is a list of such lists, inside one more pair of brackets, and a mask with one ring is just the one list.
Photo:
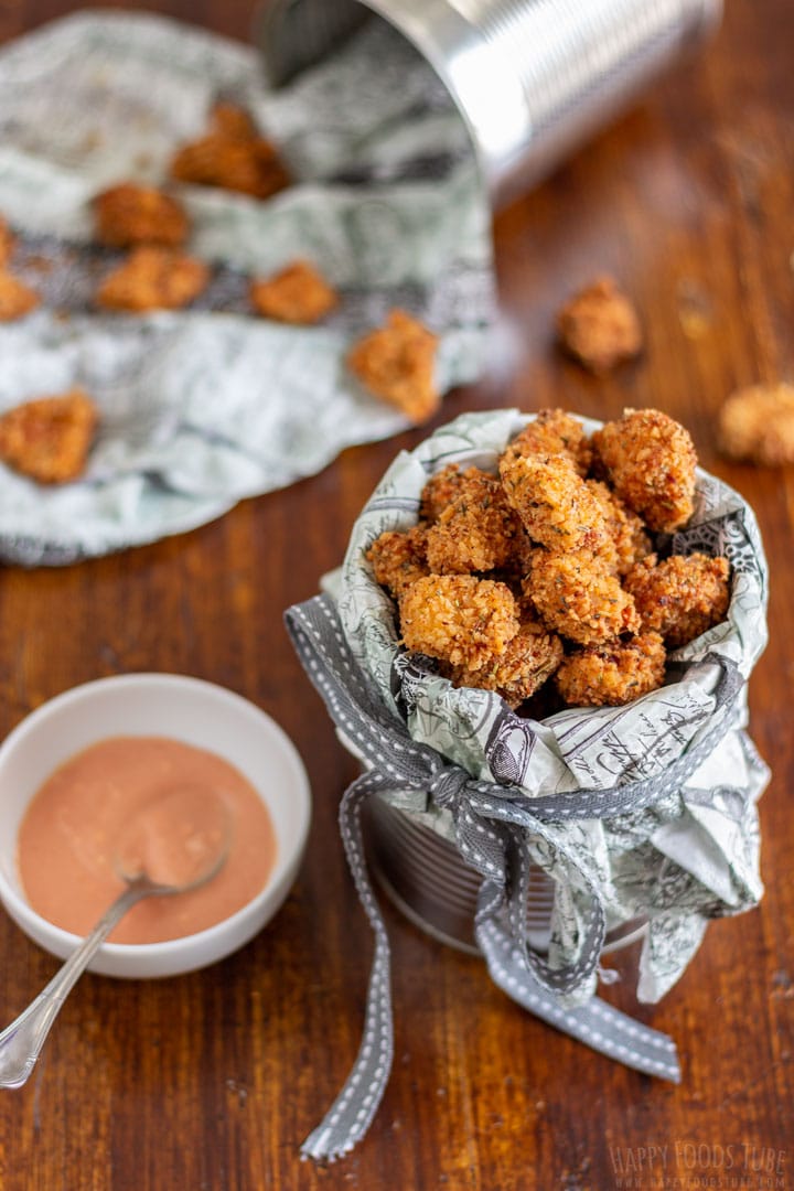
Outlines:
[[[267, 201], [175, 185], [193, 306], [110, 314], [119, 254], [92, 243], [93, 195], [165, 181], [219, 99], [245, 107], [295, 185]], [[407, 423], [354, 380], [355, 338], [401, 306], [439, 333], [437, 384], [476, 379], [494, 305], [489, 212], [462, 120], [385, 24], [269, 92], [256, 51], [154, 15], [81, 12], [0, 51], [0, 214], [13, 272], [42, 295], [0, 323], [0, 412], [83, 386], [100, 431], [81, 480], [0, 466], [0, 559], [67, 563], [204, 524]], [[340, 292], [318, 328], [251, 314], [248, 281], [308, 257]]]

